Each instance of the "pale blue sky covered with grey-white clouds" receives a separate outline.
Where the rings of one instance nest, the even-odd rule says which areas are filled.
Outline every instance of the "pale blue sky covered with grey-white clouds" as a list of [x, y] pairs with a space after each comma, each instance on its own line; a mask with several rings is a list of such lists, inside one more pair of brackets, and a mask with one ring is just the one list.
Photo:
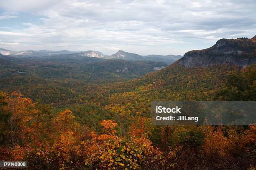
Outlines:
[[0, 48], [184, 55], [256, 35], [255, 0], [0, 0]]

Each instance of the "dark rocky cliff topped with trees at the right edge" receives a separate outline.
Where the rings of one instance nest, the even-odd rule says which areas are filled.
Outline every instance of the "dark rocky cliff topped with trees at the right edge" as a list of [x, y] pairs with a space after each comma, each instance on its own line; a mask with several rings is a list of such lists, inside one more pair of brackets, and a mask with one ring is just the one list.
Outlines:
[[241, 67], [251, 65], [256, 63], [256, 36], [251, 39], [220, 39], [210, 48], [185, 53], [178, 63], [187, 68], [226, 63]]

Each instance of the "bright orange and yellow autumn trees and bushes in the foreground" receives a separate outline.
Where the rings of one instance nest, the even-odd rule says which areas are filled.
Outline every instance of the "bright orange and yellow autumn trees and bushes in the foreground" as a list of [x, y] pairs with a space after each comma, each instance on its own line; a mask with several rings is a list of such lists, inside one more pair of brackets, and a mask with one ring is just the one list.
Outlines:
[[3, 96], [0, 102], [6, 104], [1, 109], [12, 113], [10, 119], [15, 129], [11, 131], [13, 147], [1, 146], [4, 154], [0, 159], [27, 160], [31, 169], [163, 170], [177, 168], [182, 159], [186, 163], [187, 153], [192, 153], [194, 159], [218, 155], [223, 160], [255, 154], [256, 125], [247, 130], [221, 126], [159, 127], [149, 124], [149, 119], [137, 117], [128, 135], [120, 137], [118, 124], [112, 120], [100, 122], [101, 133], [96, 133], [76, 122], [72, 111], [66, 109], [46, 123], [31, 99], [18, 93]]

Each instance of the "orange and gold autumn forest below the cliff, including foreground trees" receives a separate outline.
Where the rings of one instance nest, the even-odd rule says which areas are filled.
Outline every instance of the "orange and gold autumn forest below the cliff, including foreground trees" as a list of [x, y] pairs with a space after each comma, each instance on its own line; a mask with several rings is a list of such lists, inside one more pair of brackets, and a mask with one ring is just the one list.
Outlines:
[[[253, 168], [253, 125], [153, 126], [149, 117], [150, 103], [156, 100], [255, 100], [255, 75], [256, 66], [186, 69], [175, 63], [127, 82], [86, 84], [80, 91], [67, 85], [72, 86], [70, 94], [61, 95], [72, 102], [67, 99], [55, 108], [26, 94], [1, 92], [0, 140], [5, 154], [0, 159], [28, 160], [32, 169]], [[234, 79], [243, 82], [243, 88]], [[47, 101], [54, 93], [35, 96]]]

